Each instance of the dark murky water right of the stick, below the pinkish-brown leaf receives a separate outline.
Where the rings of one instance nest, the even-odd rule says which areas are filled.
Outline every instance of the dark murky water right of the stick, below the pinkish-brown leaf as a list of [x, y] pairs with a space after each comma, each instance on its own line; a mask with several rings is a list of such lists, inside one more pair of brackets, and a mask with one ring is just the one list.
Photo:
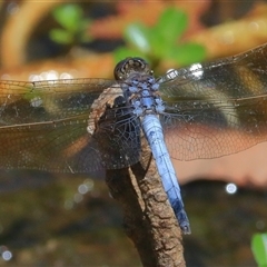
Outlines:
[[182, 188], [192, 229], [185, 237], [187, 266], [256, 266], [250, 240], [267, 231], [267, 190], [229, 194], [226, 186], [198, 181]]

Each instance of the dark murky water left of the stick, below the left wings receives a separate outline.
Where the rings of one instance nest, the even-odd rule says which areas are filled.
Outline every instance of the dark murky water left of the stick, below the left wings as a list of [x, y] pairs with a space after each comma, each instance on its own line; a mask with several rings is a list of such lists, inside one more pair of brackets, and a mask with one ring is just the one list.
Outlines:
[[[13, 176], [17, 180], [18, 172]], [[73, 175], [47, 178], [39, 187], [1, 192], [0, 246], [12, 258], [1, 258], [0, 266], [140, 266], [103, 181]]]

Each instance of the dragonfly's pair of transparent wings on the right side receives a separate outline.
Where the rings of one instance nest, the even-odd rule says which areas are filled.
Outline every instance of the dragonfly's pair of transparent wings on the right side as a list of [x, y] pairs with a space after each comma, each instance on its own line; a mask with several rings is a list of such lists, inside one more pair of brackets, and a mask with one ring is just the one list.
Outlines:
[[161, 122], [174, 158], [234, 154], [267, 140], [267, 46], [160, 78]]

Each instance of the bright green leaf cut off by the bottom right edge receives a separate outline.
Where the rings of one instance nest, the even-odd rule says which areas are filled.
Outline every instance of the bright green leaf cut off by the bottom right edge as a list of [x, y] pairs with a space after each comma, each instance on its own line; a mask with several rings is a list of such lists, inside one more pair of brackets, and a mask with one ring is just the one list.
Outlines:
[[258, 266], [267, 266], [267, 234], [254, 235], [251, 249]]

